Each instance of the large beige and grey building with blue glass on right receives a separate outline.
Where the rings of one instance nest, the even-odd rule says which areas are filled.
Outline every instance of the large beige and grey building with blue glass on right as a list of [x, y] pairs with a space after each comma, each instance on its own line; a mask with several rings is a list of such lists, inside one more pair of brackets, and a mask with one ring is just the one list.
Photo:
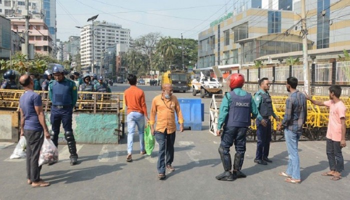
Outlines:
[[[197, 68], [242, 66], [253, 64], [262, 56], [302, 51], [300, 1], [292, 4], [292, 0], [238, 0], [237, 3], [232, 12], [199, 33]], [[347, 2], [307, 0], [306, 12], [308, 49], [350, 44], [346, 37], [350, 30], [346, 21], [350, 16], [344, 14], [350, 12]]]

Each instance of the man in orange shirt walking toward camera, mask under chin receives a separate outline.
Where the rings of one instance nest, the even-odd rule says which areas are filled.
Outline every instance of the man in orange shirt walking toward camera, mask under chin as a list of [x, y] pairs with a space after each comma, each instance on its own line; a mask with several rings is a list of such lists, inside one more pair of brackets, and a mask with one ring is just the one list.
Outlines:
[[[150, 109], [150, 131], [155, 136], [159, 144], [158, 151], [158, 178], [165, 178], [165, 168], [174, 171], [171, 163], [174, 159], [174, 143], [175, 143], [175, 111], [180, 124], [180, 132], [183, 131], [183, 117], [180, 105], [176, 96], [172, 95], [172, 86], [169, 83], [162, 85], [162, 93], [155, 96], [152, 100]], [[154, 130], [155, 115], [157, 116], [157, 124]], [[166, 158], [166, 159], [165, 159]]]

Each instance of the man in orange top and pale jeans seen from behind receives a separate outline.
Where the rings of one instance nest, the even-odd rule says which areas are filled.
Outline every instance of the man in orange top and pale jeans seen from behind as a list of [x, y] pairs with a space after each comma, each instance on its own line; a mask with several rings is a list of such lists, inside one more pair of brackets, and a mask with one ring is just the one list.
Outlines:
[[126, 161], [130, 162], [133, 134], [135, 133], [135, 126], [137, 125], [138, 136], [140, 141], [141, 154], [145, 154], [144, 150], [144, 117], [148, 121], [147, 106], [144, 100], [144, 92], [142, 89], [136, 86], [136, 76], [128, 74], [127, 80], [129, 81], [130, 87], [124, 91], [125, 105], [127, 106], [127, 156]]

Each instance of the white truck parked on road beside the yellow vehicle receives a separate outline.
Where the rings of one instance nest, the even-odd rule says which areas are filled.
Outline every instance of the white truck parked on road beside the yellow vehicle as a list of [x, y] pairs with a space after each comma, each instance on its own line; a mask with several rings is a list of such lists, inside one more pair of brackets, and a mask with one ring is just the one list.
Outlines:
[[192, 95], [200, 93], [200, 97], [211, 96], [212, 94], [222, 94], [221, 83], [213, 77], [204, 76], [200, 73], [200, 77], [194, 78], [192, 81]]

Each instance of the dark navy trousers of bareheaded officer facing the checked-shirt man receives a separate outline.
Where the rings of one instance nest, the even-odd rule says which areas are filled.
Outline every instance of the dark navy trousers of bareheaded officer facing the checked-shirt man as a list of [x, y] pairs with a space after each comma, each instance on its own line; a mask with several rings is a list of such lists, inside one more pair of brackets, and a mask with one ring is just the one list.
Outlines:
[[271, 141], [271, 120], [264, 119], [267, 122], [267, 126], [261, 125], [258, 119], [255, 120], [256, 123], [256, 154], [255, 159], [261, 159], [262, 157], [268, 157], [268, 152], [270, 150]]

